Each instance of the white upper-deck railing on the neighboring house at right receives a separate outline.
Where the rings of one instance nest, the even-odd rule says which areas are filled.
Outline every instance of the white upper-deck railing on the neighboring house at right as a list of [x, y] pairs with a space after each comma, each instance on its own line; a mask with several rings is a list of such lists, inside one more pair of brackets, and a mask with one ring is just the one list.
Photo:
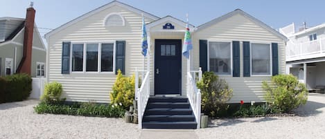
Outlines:
[[[286, 47], [286, 56], [288, 58], [314, 55], [324, 52], [325, 38], [318, 38], [315, 41], [306, 41], [301, 43], [294, 43], [292, 41], [288, 41]], [[304, 59], [304, 57], [301, 57], [301, 59]]]

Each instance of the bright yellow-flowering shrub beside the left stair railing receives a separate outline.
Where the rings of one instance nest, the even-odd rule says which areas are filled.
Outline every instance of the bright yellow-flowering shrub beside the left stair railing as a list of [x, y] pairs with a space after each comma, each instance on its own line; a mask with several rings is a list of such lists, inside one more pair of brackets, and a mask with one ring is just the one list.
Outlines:
[[113, 92], [110, 93], [112, 104], [122, 104], [124, 109], [129, 109], [134, 100], [135, 77], [125, 77], [118, 70], [118, 75], [113, 86]]

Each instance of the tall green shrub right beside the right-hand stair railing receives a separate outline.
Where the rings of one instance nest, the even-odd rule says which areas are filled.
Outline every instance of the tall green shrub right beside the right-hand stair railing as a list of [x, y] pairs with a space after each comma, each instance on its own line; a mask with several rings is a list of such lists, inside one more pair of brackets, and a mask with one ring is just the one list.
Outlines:
[[232, 97], [232, 89], [225, 80], [219, 79], [213, 72], [205, 72], [202, 80], [197, 82], [197, 88], [202, 93], [202, 112], [211, 117], [217, 113], [226, 111], [229, 105], [226, 104]]

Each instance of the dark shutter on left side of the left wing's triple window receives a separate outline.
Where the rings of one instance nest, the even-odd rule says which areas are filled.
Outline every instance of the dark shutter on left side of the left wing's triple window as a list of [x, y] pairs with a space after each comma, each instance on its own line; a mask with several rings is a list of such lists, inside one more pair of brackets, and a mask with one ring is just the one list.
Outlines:
[[62, 43], [62, 74], [70, 73], [70, 46], [71, 42], [63, 42]]

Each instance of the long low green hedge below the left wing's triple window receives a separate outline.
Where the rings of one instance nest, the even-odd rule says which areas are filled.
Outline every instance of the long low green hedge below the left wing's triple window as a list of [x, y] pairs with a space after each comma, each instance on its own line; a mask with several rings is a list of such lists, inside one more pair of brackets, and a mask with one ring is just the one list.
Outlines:
[[39, 103], [34, 107], [36, 113], [51, 113], [64, 115], [83, 115], [94, 117], [121, 118], [125, 110], [118, 105], [95, 104], [91, 102], [79, 102], [73, 104], [49, 104]]

